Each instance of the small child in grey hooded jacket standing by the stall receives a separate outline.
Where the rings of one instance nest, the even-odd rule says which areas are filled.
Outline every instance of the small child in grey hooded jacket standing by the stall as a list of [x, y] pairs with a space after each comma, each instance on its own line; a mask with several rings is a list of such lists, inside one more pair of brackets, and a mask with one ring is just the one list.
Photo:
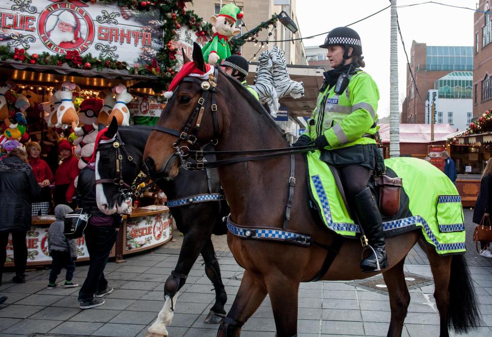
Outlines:
[[67, 269], [63, 286], [65, 288], [78, 286], [72, 282], [77, 259], [77, 243], [75, 240], [68, 240], [63, 234], [65, 215], [72, 211], [67, 205], [57, 205], [55, 207], [56, 220], [48, 229], [48, 251], [52, 258], [48, 289], [56, 287], [56, 277], [60, 274], [61, 268]]

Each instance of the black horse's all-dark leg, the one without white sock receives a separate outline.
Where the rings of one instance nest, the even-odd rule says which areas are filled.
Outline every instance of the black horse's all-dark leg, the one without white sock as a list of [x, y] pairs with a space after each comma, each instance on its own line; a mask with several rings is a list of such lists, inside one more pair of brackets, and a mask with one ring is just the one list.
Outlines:
[[222, 283], [222, 278], [220, 277], [220, 267], [215, 256], [214, 245], [210, 238], [205, 242], [201, 250], [201, 256], [203, 257], [203, 261], [205, 261], [205, 273], [210, 281], [212, 281], [215, 289], [215, 304], [210, 309], [205, 323], [219, 324], [222, 322], [224, 316], [226, 316], [224, 304], [227, 302], [227, 294]]

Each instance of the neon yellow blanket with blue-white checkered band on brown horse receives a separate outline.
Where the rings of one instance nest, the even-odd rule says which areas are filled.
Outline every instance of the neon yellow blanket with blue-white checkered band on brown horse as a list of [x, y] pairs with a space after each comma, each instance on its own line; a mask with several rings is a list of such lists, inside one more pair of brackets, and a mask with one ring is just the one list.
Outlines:
[[[360, 236], [359, 225], [347, 211], [335, 178], [320, 151], [306, 154], [308, 186], [312, 205], [330, 230], [347, 238]], [[466, 251], [461, 197], [449, 178], [432, 164], [416, 158], [384, 161], [386, 174], [401, 177], [400, 210], [388, 218], [383, 215], [384, 236], [394, 236], [420, 228], [438, 254]], [[370, 182], [370, 186], [373, 182]]]

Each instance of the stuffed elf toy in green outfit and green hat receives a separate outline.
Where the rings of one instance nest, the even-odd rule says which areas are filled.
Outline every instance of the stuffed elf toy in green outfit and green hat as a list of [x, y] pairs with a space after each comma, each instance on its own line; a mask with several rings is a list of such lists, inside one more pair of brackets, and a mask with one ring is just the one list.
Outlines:
[[202, 49], [203, 59], [209, 64], [216, 64], [218, 61], [231, 56], [228, 40], [234, 35], [239, 34], [240, 29], [236, 28], [236, 20], [242, 18], [239, 7], [234, 4], [224, 5], [219, 15], [210, 17], [214, 35]]

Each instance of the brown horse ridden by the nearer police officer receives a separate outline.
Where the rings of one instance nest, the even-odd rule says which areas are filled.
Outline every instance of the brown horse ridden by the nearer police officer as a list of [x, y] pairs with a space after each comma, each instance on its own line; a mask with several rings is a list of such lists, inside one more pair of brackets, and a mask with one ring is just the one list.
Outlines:
[[[195, 45], [193, 62], [205, 70], [199, 47]], [[282, 132], [262, 106], [232, 77], [217, 75], [216, 104], [213, 111], [211, 95], [199, 80], [182, 81], [147, 141], [144, 152], [146, 164], [154, 174], [176, 176], [180, 167], [176, 147], [187, 144], [180, 140], [181, 131], [200, 119], [197, 144], [216, 139], [217, 151], [285, 148], [289, 144]], [[214, 83], [213, 83], [214, 84]], [[213, 85], [212, 85], [213, 86]], [[200, 96], [208, 101], [198, 111]], [[212, 99], [213, 102], [213, 99]], [[202, 102], [203, 103], [203, 102]], [[217, 114], [213, 118], [213, 114]], [[190, 118], [191, 117], [191, 118]], [[198, 129], [196, 129], [198, 130]], [[183, 134], [181, 133], [181, 136]], [[191, 142], [193, 142], [190, 139]], [[188, 144], [190, 146], [190, 144]], [[186, 155], [186, 148], [181, 148]], [[218, 155], [218, 160], [237, 158]], [[320, 226], [318, 215], [310, 211], [310, 196], [306, 186], [304, 157], [295, 155], [295, 194], [289, 230], [312, 236], [326, 246], [334, 242], [336, 234]], [[288, 201], [290, 176], [289, 155], [267, 160], [245, 161], [220, 165], [221, 184], [231, 208], [231, 221], [254, 228], [283, 226], [285, 205]], [[438, 256], [435, 247], [426, 243], [421, 230], [407, 232], [386, 239], [389, 266], [382, 272], [388, 288], [391, 323], [388, 336], [401, 335], [410, 295], [403, 274], [403, 263], [412, 247], [419, 243], [427, 254], [435, 282], [437, 307], [440, 313], [440, 335], [448, 336], [448, 327], [467, 331], [477, 325], [479, 313], [475, 291], [463, 255]], [[221, 324], [218, 336], [238, 336], [246, 322], [265, 296], [270, 296], [278, 336], [297, 333], [298, 290], [300, 282], [314, 278], [322, 268], [328, 251], [319, 245], [303, 247], [274, 240], [246, 239], [228, 233], [229, 248], [236, 261], [245, 269], [234, 304]], [[358, 240], [345, 240], [329, 271], [321, 280], [354, 280], [376, 275], [360, 271], [361, 245]], [[159, 335], [159, 334], [149, 334]]]

